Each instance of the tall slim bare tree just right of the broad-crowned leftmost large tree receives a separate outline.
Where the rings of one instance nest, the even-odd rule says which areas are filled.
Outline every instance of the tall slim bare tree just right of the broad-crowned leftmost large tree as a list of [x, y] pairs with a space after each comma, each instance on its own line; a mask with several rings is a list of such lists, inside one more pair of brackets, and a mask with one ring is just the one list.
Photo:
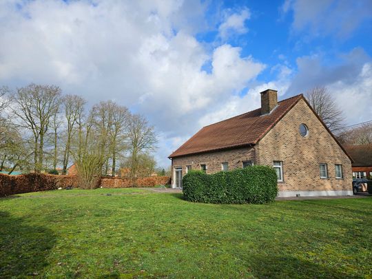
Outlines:
[[63, 107], [67, 125], [67, 133], [66, 133], [66, 143], [65, 149], [63, 152], [63, 169], [62, 174], [66, 174], [68, 162], [70, 160], [70, 152], [71, 152], [71, 141], [72, 137], [74, 136], [74, 127], [75, 125], [79, 125], [79, 143], [81, 144], [81, 133], [80, 129], [83, 129], [82, 123], [82, 114], [84, 111], [85, 100], [80, 96], [76, 95], [66, 95], [63, 98]]

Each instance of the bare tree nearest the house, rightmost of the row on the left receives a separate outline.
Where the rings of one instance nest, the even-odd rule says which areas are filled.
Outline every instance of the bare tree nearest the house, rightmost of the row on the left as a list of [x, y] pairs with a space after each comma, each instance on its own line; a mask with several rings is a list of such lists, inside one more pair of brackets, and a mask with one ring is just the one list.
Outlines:
[[149, 126], [143, 116], [132, 115], [128, 125], [128, 141], [130, 148], [130, 178], [134, 180], [137, 175], [138, 156], [145, 152], [151, 152], [156, 148], [154, 127]]

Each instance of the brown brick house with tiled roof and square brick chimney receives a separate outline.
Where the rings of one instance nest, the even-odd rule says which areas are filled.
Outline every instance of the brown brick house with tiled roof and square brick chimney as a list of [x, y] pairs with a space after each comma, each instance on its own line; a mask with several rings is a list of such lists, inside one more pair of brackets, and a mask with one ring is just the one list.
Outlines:
[[203, 127], [169, 155], [172, 187], [190, 169], [271, 165], [279, 196], [352, 195], [351, 158], [304, 96], [278, 102], [275, 90], [260, 94], [260, 108]]

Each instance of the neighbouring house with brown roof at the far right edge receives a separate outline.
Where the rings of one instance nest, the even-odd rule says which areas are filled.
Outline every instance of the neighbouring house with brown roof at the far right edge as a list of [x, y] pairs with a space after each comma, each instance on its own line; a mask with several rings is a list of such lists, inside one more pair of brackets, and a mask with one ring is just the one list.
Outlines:
[[372, 143], [366, 145], [344, 145], [353, 159], [353, 178], [372, 178]]

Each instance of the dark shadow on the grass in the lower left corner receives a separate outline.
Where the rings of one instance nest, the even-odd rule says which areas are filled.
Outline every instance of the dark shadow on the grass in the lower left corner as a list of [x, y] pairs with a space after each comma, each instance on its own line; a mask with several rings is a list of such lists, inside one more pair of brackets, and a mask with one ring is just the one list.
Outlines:
[[55, 242], [50, 229], [0, 211], [0, 278], [39, 275]]

